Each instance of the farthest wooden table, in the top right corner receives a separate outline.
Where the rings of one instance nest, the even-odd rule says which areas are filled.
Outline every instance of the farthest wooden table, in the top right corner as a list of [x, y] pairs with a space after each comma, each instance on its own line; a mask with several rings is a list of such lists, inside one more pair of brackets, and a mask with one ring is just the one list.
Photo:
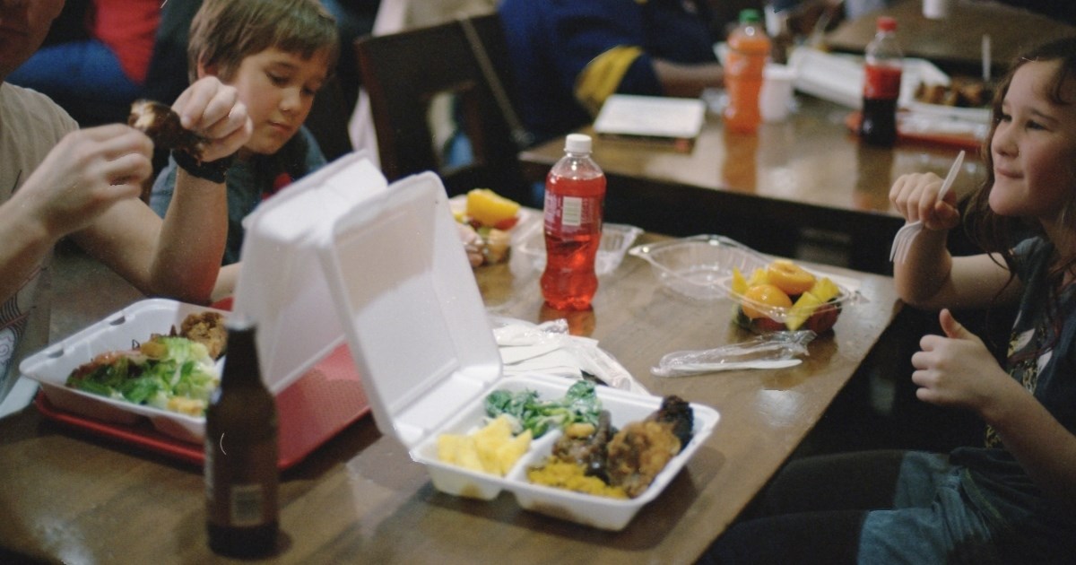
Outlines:
[[949, 15], [931, 19], [921, 0], [891, 5], [847, 19], [825, 34], [833, 51], [862, 55], [874, 39], [879, 15], [896, 18], [906, 57], [920, 57], [943, 70], [975, 77], [982, 74], [982, 36], [990, 36], [991, 77], [997, 79], [1013, 59], [1038, 43], [1076, 36], [1076, 27], [1048, 16], [991, 0], [950, 0]]

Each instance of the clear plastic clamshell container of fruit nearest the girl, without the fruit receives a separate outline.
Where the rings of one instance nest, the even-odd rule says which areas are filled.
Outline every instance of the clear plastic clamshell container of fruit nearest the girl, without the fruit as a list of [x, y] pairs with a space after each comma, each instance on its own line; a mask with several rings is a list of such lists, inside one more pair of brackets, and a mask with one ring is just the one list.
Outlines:
[[[748, 305], [775, 323], [763, 324], [760, 329], [784, 329], [785, 321], [792, 315], [790, 308], [758, 302], [733, 291], [734, 269], [738, 269], [745, 278], [750, 277], [755, 269], [766, 268], [773, 258], [730, 238], [692, 236], [636, 245], [628, 253], [649, 262], [654, 276], [670, 291], [698, 300], [730, 298], [736, 305]], [[856, 285], [854, 280], [807, 270], [816, 278], [826, 277], [837, 285], [839, 292], [826, 302], [826, 308], [835, 309], [838, 315], [845, 306], [860, 298], [852, 289]]]

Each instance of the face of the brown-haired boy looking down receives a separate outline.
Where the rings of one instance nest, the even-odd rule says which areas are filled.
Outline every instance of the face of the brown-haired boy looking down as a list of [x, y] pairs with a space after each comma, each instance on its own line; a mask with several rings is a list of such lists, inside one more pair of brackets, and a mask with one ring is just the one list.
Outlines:
[[243, 149], [270, 155], [280, 151], [307, 119], [314, 95], [328, 74], [328, 53], [309, 59], [270, 47], [243, 58], [230, 84], [254, 124]]

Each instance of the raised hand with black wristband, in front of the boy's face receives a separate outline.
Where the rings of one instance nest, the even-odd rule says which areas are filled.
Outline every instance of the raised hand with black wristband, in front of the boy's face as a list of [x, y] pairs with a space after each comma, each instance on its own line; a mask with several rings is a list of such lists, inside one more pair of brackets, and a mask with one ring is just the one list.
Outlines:
[[180, 115], [183, 127], [209, 141], [201, 156], [204, 161], [236, 153], [254, 129], [239, 93], [216, 76], [199, 79], [187, 87], [175, 99], [172, 110]]

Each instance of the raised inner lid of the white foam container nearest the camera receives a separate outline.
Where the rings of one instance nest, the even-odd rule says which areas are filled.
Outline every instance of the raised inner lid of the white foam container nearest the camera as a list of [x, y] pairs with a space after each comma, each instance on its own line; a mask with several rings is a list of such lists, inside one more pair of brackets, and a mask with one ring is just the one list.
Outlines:
[[383, 433], [413, 447], [499, 378], [482, 296], [436, 174], [398, 181], [350, 210], [321, 256]]

